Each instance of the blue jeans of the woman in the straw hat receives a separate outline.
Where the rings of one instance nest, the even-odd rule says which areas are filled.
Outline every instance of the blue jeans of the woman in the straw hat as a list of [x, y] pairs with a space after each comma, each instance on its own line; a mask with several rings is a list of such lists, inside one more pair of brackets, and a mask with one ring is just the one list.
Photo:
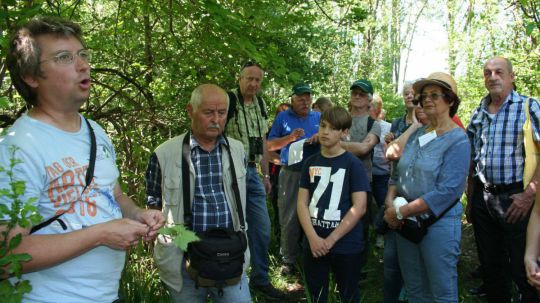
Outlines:
[[422, 242], [396, 236], [399, 266], [409, 302], [458, 302], [457, 262], [461, 242], [461, 213], [457, 203], [431, 225]]

